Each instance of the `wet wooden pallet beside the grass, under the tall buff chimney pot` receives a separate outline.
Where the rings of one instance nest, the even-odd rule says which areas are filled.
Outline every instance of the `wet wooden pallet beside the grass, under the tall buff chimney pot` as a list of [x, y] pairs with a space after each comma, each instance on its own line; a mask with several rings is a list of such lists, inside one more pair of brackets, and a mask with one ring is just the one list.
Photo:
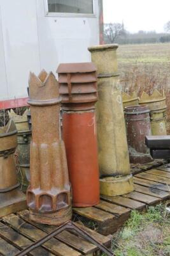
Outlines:
[[100, 204], [89, 208], [74, 208], [83, 223], [91, 221], [101, 234], [113, 234], [121, 227], [133, 209], [145, 211], [170, 198], [170, 168], [159, 166], [134, 175], [134, 191], [124, 196], [101, 196]]

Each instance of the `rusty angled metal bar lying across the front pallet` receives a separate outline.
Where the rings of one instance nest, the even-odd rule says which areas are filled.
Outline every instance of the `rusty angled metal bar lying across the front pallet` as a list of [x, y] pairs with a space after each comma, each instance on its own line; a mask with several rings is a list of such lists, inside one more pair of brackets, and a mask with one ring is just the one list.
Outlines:
[[104, 246], [103, 244], [96, 241], [96, 239], [94, 239], [92, 236], [90, 236], [87, 232], [82, 230], [80, 227], [77, 227], [72, 221], [67, 221], [64, 225], [58, 227], [52, 233], [46, 235], [41, 240], [36, 241], [35, 243], [31, 244], [30, 246], [28, 246], [27, 248], [22, 250], [22, 252], [19, 252], [19, 253], [15, 254], [14, 256], [24, 256], [24, 255], [26, 255], [27, 253], [29, 253], [32, 250], [38, 248], [42, 244], [46, 243], [46, 241], [50, 240], [52, 237], [57, 236], [57, 234], [60, 234], [60, 232], [66, 230], [66, 229], [76, 231], [78, 233], [78, 235], [85, 238], [90, 243], [96, 245], [102, 252], [106, 253], [106, 255], [114, 256], [114, 254], [108, 248], [106, 248], [106, 246]]

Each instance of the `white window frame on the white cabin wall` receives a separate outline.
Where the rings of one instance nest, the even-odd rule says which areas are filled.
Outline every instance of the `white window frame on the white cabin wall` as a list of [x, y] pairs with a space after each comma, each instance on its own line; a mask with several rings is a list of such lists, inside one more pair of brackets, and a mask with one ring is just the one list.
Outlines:
[[48, 12], [48, 0], [45, 1], [45, 16], [46, 17], [97, 17], [97, 0], [93, 1], [93, 13], [63, 13], [63, 12]]

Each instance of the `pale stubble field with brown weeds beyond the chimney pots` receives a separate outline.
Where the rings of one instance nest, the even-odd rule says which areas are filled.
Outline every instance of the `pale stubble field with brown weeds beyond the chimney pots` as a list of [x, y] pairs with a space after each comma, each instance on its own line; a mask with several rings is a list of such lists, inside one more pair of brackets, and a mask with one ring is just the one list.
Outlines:
[[124, 92], [170, 90], [170, 44], [119, 45], [117, 54]]

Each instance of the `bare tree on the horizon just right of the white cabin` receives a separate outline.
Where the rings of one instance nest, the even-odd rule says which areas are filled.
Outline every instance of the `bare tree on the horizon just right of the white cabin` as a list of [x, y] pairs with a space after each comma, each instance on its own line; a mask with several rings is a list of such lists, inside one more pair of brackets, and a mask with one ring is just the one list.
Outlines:
[[125, 35], [124, 24], [109, 23], [104, 24], [104, 36], [110, 43], [114, 43], [119, 36]]

